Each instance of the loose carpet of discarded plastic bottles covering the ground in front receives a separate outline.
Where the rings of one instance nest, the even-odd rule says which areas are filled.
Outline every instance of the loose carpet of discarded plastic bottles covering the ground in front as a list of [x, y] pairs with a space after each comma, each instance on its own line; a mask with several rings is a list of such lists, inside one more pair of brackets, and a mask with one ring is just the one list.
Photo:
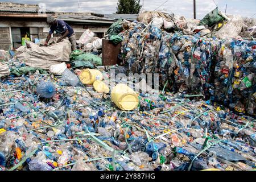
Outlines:
[[121, 111], [75, 75], [1, 80], [1, 170], [255, 168], [255, 118], [168, 92]]

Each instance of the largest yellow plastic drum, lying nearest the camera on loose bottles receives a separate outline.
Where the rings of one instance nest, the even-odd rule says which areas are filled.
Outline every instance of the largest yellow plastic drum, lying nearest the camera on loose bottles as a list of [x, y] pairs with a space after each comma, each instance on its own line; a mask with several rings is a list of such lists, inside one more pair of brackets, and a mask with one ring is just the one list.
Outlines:
[[137, 93], [125, 84], [118, 84], [113, 88], [111, 99], [121, 110], [133, 110], [139, 103]]

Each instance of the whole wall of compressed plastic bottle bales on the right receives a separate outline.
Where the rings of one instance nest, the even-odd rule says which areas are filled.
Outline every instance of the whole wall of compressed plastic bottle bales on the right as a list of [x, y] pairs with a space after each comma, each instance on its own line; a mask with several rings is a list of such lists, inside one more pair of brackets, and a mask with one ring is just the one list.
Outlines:
[[132, 22], [119, 58], [133, 73], [159, 73], [174, 93], [201, 94], [241, 113], [256, 113], [256, 42], [168, 33]]

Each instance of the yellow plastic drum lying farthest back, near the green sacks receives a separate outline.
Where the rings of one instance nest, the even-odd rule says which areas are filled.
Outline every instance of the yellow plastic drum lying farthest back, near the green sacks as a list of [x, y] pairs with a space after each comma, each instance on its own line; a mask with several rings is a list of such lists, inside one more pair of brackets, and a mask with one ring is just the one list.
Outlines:
[[79, 75], [80, 80], [85, 85], [92, 85], [96, 80], [103, 80], [103, 75], [97, 69], [84, 69]]

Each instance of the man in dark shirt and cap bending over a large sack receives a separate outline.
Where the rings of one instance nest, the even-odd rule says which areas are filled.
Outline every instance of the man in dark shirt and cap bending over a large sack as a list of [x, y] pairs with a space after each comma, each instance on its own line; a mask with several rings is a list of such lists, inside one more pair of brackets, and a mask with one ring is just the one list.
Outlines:
[[49, 35], [47, 36], [46, 43], [44, 43], [44, 46], [47, 46], [49, 39], [51, 38], [51, 35], [54, 31], [57, 32], [57, 34], [62, 35], [58, 40], [57, 43], [61, 42], [62, 39], [64, 39], [66, 36], [68, 37], [69, 42], [72, 44], [72, 51], [76, 49], [76, 36], [73, 28], [68, 25], [68, 23], [64, 22], [60, 19], [55, 19], [53, 16], [48, 15], [47, 16], [47, 23], [49, 23], [50, 31]]

